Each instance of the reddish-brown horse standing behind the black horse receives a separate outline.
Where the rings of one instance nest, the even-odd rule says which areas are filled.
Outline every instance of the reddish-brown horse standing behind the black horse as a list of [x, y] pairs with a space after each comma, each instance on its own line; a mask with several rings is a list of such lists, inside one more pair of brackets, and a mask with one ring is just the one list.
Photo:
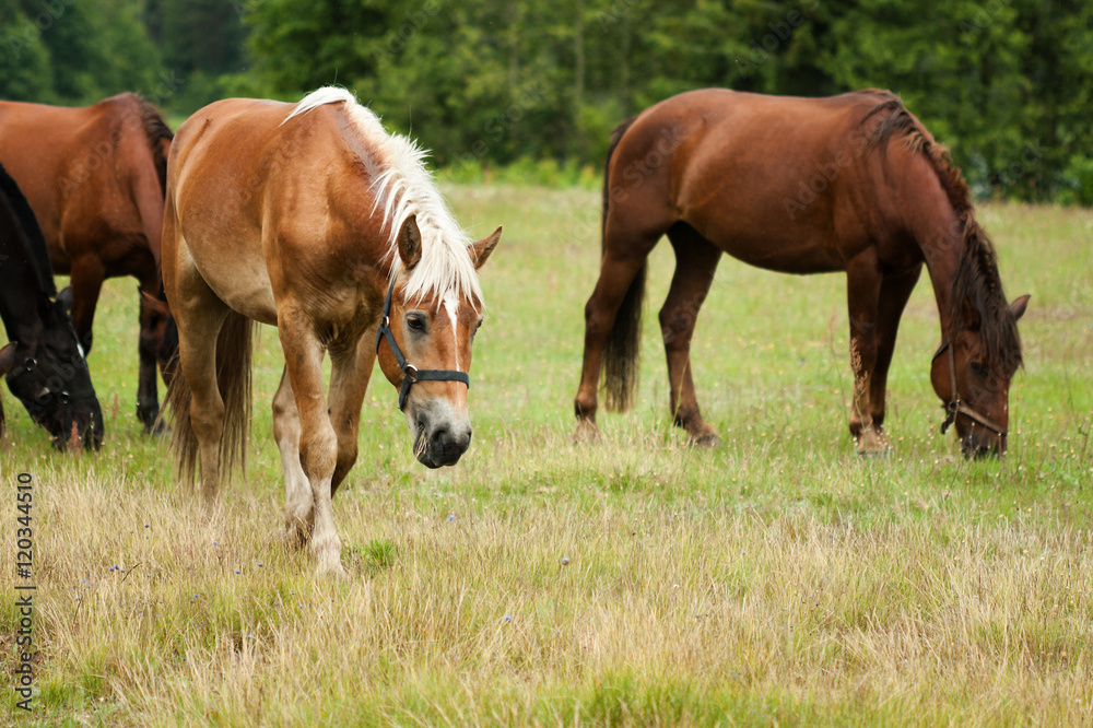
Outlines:
[[136, 94], [84, 108], [0, 102], [0, 162], [31, 201], [54, 270], [71, 277], [72, 322], [86, 353], [103, 280], [132, 275], [140, 284], [137, 416], [146, 431], [160, 411], [156, 359], [165, 366], [175, 353], [174, 322], [156, 300], [171, 138]]

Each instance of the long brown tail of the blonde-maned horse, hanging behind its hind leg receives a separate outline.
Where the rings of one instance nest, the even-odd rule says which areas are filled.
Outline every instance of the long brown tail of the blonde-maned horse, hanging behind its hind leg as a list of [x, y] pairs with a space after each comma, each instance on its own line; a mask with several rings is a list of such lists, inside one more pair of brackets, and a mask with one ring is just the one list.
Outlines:
[[[250, 364], [255, 324], [230, 312], [216, 338], [216, 385], [224, 400], [224, 431], [220, 438], [220, 462], [227, 473], [238, 463], [247, 469], [247, 435], [250, 428]], [[181, 373], [171, 378], [167, 403], [175, 415], [171, 447], [179, 480], [192, 483], [197, 471], [198, 438], [190, 422], [192, 391]]]

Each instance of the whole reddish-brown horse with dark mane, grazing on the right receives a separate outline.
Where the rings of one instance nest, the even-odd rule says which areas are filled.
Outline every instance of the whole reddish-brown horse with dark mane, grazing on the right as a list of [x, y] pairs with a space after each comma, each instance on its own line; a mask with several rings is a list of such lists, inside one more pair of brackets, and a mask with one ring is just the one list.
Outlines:
[[941, 317], [933, 389], [942, 432], [965, 455], [1006, 450], [1016, 321], [995, 250], [948, 153], [893, 94], [792, 98], [703, 90], [615, 129], [603, 186], [603, 258], [585, 308], [574, 402], [578, 438], [595, 437], [601, 368], [608, 407], [625, 409], [637, 371], [646, 258], [663, 234], [675, 273], [660, 310], [671, 411], [716, 444], [698, 412], [691, 337], [722, 253], [787, 273], [846, 271], [859, 453], [888, 448], [884, 390], [896, 328], [922, 263]]

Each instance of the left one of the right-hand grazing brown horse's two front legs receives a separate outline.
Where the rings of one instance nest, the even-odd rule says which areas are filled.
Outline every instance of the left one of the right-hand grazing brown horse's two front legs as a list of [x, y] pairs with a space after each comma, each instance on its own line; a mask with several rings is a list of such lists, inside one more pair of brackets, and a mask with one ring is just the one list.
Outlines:
[[850, 369], [854, 372], [850, 434], [858, 455], [888, 451], [888, 443], [879, 423], [873, 422], [871, 403], [871, 379], [877, 368], [877, 309], [882, 280], [874, 248], [867, 249], [847, 266]]

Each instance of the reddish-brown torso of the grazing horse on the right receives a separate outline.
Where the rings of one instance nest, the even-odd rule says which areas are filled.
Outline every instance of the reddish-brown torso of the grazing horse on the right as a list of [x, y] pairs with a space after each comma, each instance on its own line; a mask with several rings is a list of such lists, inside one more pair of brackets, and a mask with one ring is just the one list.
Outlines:
[[609, 169], [613, 197], [656, 210], [669, 225], [685, 222], [752, 265], [841, 270], [878, 236], [898, 234], [891, 179], [904, 174], [907, 155], [902, 146], [877, 153], [863, 124], [893, 103], [872, 90], [673, 96], [640, 114], [620, 141]]

